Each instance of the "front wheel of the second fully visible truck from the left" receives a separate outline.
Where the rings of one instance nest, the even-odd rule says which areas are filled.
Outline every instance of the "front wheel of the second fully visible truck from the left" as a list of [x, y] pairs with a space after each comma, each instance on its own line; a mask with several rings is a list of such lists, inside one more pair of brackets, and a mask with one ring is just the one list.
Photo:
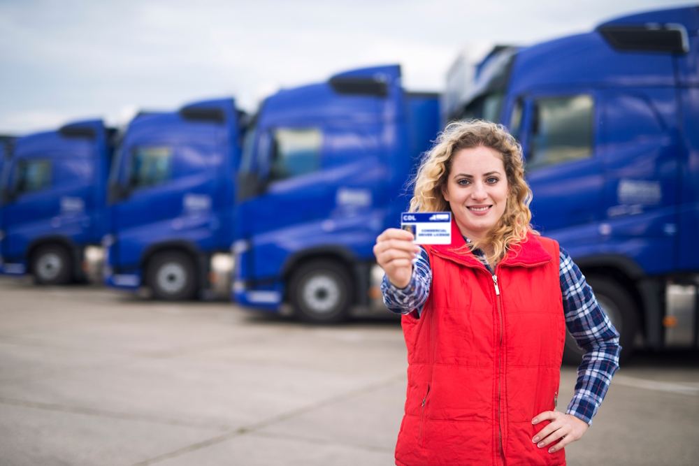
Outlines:
[[146, 284], [157, 299], [193, 299], [197, 291], [194, 261], [183, 252], [160, 252], [148, 261]]

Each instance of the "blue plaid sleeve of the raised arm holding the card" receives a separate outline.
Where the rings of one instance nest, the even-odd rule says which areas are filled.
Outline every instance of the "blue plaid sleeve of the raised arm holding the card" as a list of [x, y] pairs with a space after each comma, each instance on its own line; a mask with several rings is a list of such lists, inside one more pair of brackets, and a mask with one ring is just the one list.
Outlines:
[[410, 314], [417, 311], [421, 314], [422, 306], [427, 301], [432, 286], [432, 269], [430, 258], [423, 247], [417, 257], [412, 260], [412, 278], [405, 288], [400, 289], [391, 282], [386, 275], [381, 282], [381, 292], [384, 296], [384, 304], [391, 312], [396, 314]]

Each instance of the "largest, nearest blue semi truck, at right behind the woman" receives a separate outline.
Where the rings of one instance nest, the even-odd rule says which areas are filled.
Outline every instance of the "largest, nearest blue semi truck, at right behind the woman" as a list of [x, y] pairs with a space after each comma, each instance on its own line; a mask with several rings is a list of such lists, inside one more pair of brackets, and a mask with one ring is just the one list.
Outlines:
[[[447, 119], [518, 138], [533, 224], [580, 266], [626, 357], [698, 345], [698, 29], [699, 8], [678, 8], [498, 47], [447, 91], [463, 96]], [[565, 361], [583, 353], [568, 335]]]

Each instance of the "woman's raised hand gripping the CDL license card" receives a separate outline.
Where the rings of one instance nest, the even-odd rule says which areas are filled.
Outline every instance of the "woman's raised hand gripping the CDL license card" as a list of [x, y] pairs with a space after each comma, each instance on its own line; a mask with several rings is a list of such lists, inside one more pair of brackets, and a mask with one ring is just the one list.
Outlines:
[[398, 228], [389, 228], [376, 238], [374, 255], [386, 272], [389, 282], [398, 288], [405, 288], [412, 277], [412, 259], [420, 247], [412, 244], [412, 233]]

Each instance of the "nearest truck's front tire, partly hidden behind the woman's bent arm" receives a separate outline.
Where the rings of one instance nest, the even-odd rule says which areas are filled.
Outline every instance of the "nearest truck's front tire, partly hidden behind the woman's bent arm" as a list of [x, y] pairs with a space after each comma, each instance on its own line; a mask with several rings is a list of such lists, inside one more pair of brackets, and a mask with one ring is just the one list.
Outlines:
[[[633, 353], [633, 339], [638, 326], [638, 308], [635, 301], [618, 282], [608, 277], [589, 277], [587, 283], [592, 287], [598, 303], [619, 332], [621, 344], [621, 361], [628, 361]], [[563, 364], [579, 365], [586, 351], [579, 349], [575, 339], [565, 330], [565, 349]]]

